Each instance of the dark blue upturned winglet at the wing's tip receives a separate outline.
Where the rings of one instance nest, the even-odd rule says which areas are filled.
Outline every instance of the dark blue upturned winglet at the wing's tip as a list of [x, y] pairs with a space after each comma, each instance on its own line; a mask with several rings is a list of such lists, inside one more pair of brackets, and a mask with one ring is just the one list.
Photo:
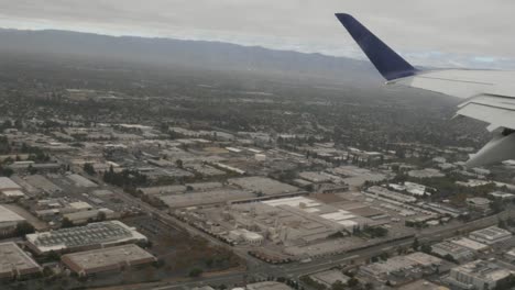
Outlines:
[[404, 58], [353, 16], [346, 13], [337, 13], [336, 16], [386, 80], [409, 77], [416, 74], [416, 68], [404, 60]]

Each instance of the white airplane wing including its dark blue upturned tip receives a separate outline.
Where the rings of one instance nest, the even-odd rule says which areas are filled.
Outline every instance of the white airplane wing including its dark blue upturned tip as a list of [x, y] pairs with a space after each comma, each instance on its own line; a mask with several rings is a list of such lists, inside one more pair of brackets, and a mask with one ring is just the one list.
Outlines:
[[494, 137], [467, 167], [478, 167], [515, 158], [515, 71], [442, 69], [420, 70], [413, 67], [353, 16], [337, 13], [352, 38], [365, 53], [386, 83], [440, 92], [467, 99], [457, 115], [489, 123]]

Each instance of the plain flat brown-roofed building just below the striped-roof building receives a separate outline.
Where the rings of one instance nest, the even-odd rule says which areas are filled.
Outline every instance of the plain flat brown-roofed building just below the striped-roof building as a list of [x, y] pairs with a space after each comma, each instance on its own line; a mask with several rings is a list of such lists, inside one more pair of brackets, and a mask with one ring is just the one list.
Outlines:
[[157, 259], [139, 246], [130, 244], [66, 254], [62, 256], [61, 260], [72, 271], [79, 276], [87, 276], [145, 265]]

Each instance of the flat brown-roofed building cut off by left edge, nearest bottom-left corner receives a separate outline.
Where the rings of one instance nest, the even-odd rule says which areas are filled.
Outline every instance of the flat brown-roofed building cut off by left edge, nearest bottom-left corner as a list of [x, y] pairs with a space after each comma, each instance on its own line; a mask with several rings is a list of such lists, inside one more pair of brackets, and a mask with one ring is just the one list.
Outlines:
[[41, 271], [41, 266], [17, 244], [0, 244], [0, 279], [20, 279]]

